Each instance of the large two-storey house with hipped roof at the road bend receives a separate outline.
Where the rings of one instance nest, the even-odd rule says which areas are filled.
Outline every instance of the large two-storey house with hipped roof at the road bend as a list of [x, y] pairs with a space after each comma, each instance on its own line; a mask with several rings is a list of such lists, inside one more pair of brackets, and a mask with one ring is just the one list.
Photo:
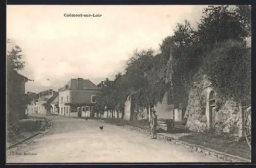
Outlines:
[[100, 87], [88, 79], [69, 80], [59, 89], [59, 115], [77, 116], [80, 109], [82, 116], [93, 116], [93, 106], [100, 93]]

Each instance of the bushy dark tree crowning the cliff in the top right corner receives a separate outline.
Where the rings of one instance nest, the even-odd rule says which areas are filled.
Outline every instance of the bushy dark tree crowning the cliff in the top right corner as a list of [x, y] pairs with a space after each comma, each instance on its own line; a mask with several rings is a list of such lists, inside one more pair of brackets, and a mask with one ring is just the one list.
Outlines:
[[218, 44], [232, 40], [244, 40], [250, 35], [248, 6], [230, 8], [228, 5], [208, 6], [198, 23], [197, 35], [201, 44]]

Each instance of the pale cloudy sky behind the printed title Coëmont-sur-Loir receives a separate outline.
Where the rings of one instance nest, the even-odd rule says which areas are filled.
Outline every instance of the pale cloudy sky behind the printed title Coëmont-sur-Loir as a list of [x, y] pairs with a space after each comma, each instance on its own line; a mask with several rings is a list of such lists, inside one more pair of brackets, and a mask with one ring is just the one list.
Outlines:
[[[26, 62], [20, 74], [34, 80], [26, 92], [57, 90], [71, 78], [99, 84], [124, 70], [135, 49], [159, 50], [177, 23], [196, 26], [206, 6], [7, 6], [7, 50], [19, 45]], [[101, 17], [65, 17], [101, 14]]]

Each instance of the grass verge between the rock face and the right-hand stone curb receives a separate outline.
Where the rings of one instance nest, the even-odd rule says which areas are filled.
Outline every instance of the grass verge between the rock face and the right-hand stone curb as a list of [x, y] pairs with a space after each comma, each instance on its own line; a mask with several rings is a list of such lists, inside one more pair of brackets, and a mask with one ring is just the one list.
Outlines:
[[180, 140], [245, 159], [251, 159], [251, 150], [246, 141], [229, 143], [230, 137], [225, 134], [193, 133], [181, 137]]

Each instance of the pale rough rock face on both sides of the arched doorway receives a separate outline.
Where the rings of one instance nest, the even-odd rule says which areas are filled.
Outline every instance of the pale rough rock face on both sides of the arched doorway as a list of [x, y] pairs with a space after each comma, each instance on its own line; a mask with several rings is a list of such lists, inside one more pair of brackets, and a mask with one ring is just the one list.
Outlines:
[[[204, 74], [198, 75], [198, 80], [194, 82], [189, 91], [188, 105], [185, 116], [187, 118], [186, 127], [190, 131], [203, 132], [208, 129], [206, 116], [207, 87], [210, 81]], [[217, 102], [218, 102], [218, 94]], [[241, 110], [239, 105], [231, 98], [222, 103], [215, 115], [213, 128], [218, 133], [228, 133], [238, 135], [242, 129]], [[209, 119], [208, 119], [209, 121]]]

